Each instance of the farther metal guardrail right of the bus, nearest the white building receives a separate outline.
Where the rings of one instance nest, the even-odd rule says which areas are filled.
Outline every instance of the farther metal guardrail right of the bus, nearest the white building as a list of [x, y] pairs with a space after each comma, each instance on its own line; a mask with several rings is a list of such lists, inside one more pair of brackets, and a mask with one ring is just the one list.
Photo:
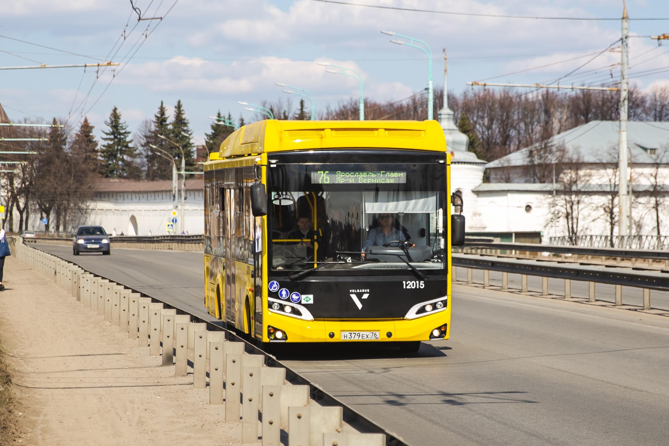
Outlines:
[[634, 259], [668, 260], [669, 251], [657, 249], [617, 249], [608, 247], [580, 247], [568, 245], [539, 245], [537, 243], [485, 243], [480, 241], [467, 241], [465, 247], [482, 249], [504, 249], [510, 251], [549, 252], [579, 255], [593, 255], [601, 257], [622, 257]]

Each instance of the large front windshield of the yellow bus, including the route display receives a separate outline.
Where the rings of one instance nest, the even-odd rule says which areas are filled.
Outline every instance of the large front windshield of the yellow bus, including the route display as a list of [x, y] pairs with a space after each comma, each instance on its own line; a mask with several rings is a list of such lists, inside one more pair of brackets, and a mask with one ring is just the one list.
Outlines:
[[445, 164], [278, 164], [268, 185], [274, 270], [445, 268]]

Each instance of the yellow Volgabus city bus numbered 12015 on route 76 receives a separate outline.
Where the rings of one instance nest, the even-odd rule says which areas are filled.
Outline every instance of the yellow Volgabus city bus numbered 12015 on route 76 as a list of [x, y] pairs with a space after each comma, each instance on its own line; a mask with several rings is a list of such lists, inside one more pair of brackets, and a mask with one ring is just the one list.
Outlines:
[[204, 301], [227, 327], [405, 351], [448, 339], [464, 217], [436, 121], [264, 120], [204, 169]]

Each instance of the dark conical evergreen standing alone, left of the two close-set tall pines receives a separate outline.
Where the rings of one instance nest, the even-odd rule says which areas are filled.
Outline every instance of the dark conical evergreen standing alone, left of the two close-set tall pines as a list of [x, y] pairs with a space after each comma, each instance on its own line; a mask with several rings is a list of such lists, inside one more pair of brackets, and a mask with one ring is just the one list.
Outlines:
[[135, 155], [132, 139], [128, 139], [128, 124], [121, 121], [121, 114], [116, 106], [104, 124], [109, 127], [109, 131], [102, 130], [105, 135], [102, 140], [106, 141], [101, 150], [102, 174], [108, 178], [126, 177], [132, 169]]

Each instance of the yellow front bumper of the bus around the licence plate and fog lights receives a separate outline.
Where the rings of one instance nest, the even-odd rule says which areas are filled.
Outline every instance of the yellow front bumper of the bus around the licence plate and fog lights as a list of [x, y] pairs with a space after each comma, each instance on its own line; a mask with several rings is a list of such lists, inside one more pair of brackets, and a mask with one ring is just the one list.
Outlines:
[[[450, 336], [450, 321], [451, 309], [448, 306], [442, 312], [411, 320], [326, 319], [305, 321], [268, 312], [264, 325], [282, 330], [286, 334], [284, 342], [347, 342], [342, 340], [342, 332], [379, 332], [378, 340], [362, 340], [361, 342], [407, 342], [448, 339]], [[441, 326], [446, 326], [445, 335], [440, 338], [431, 338], [432, 330]], [[266, 332], [263, 333], [264, 342], [269, 341], [267, 336]]]

